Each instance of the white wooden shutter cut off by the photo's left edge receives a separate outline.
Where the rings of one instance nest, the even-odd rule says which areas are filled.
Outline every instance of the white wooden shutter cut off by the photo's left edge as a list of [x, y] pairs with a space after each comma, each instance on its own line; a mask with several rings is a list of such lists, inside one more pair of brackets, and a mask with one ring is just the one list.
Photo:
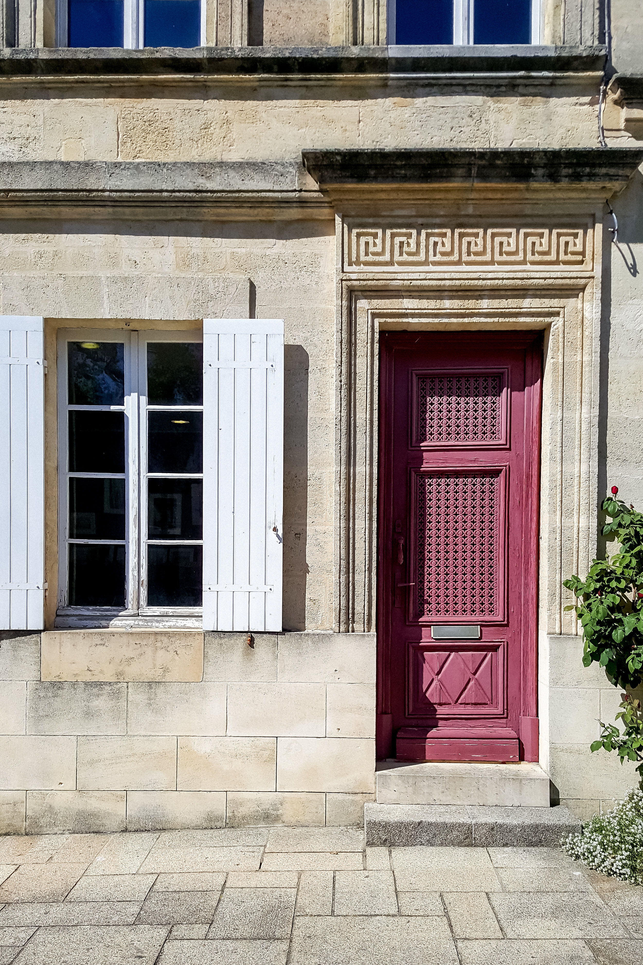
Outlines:
[[42, 318], [0, 316], [0, 629], [41, 630], [44, 609]]

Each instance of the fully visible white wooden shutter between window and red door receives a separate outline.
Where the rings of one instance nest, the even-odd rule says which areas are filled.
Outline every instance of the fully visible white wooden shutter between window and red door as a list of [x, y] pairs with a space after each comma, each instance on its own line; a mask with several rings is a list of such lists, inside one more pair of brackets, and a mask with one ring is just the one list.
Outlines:
[[281, 630], [283, 322], [203, 320], [203, 629]]

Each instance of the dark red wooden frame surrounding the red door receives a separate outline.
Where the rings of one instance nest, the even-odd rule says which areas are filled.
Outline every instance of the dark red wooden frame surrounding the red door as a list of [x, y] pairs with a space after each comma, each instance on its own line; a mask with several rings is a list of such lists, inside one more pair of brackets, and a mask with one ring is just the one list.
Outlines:
[[[393, 352], [399, 345], [413, 345], [421, 335], [449, 337], [454, 331], [379, 332], [379, 400], [378, 400], [378, 527], [377, 527], [377, 692], [378, 715], [376, 719], [376, 753], [378, 758], [392, 755], [392, 713], [390, 706], [390, 546], [392, 545], [393, 496]], [[499, 333], [493, 329], [461, 331], [471, 341], [488, 345], [497, 341]], [[523, 466], [524, 490], [522, 501], [522, 538], [534, 552], [526, 554], [522, 565], [522, 613], [520, 620], [521, 648], [521, 708], [520, 727], [521, 759], [538, 760], [538, 547], [539, 547], [539, 499], [540, 499], [540, 443], [543, 384], [543, 333], [538, 329], [507, 332], [502, 335], [501, 345], [507, 343], [524, 347], [524, 434]], [[424, 366], [422, 366], [424, 368]], [[507, 413], [509, 417], [509, 412]], [[509, 439], [507, 446], [509, 447]], [[508, 518], [505, 523], [509, 525]], [[412, 559], [414, 533], [409, 533], [408, 552]], [[529, 592], [531, 585], [535, 592]], [[441, 620], [444, 622], [444, 620]], [[409, 725], [410, 726], [410, 725]]]

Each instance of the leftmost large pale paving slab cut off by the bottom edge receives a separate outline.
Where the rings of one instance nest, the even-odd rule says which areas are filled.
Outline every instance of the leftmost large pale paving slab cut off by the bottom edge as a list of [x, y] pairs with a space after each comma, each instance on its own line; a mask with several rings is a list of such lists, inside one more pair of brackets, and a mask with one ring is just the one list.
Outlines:
[[40, 928], [20, 952], [19, 965], [154, 965], [167, 927]]

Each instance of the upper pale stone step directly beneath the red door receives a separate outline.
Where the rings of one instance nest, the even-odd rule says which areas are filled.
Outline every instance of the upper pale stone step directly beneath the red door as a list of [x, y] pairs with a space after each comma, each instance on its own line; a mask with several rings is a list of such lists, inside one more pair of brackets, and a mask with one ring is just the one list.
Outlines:
[[549, 808], [549, 776], [532, 763], [377, 764], [378, 804]]

